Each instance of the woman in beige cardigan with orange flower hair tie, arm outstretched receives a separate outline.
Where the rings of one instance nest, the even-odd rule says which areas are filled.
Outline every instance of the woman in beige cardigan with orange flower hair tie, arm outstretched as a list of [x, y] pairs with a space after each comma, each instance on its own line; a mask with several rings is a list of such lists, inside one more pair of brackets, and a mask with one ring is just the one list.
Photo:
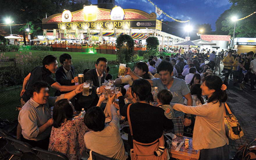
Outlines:
[[228, 139], [224, 127], [224, 102], [227, 100], [225, 84], [220, 77], [208, 75], [202, 80], [202, 95], [208, 102], [200, 106], [171, 103], [173, 109], [196, 115], [193, 149], [201, 150], [199, 160], [229, 159]]

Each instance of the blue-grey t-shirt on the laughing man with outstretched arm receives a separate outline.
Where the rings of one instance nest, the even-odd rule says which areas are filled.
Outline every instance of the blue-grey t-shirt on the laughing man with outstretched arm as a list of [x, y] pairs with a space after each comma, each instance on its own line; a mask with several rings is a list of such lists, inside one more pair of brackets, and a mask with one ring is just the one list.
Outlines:
[[[170, 88], [167, 88], [166, 85], [162, 83], [160, 78], [152, 79], [153, 86], [158, 87], [158, 90], [168, 89], [171, 91], [173, 95], [173, 99], [171, 102], [183, 104], [184, 99], [183, 96], [190, 93], [189, 87], [187, 86], [186, 82], [183, 79], [173, 78], [173, 85]], [[184, 116], [183, 112], [176, 111], [174, 109], [175, 117]]]

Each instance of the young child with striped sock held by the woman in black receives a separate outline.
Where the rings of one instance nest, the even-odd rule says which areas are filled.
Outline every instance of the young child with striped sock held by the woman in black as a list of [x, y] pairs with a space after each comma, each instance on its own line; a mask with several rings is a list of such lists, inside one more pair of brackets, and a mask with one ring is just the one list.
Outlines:
[[[165, 110], [164, 115], [168, 119], [173, 119], [174, 117], [173, 108], [170, 106], [170, 102], [172, 99], [173, 99], [173, 95], [167, 89], [161, 90], [157, 95], [157, 103], [158, 103], [157, 106]], [[159, 157], [163, 154], [165, 150], [164, 144], [165, 144], [165, 141], [162, 135], [161, 138], [159, 138], [159, 148], [157, 151], [154, 151], [155, 156]]]

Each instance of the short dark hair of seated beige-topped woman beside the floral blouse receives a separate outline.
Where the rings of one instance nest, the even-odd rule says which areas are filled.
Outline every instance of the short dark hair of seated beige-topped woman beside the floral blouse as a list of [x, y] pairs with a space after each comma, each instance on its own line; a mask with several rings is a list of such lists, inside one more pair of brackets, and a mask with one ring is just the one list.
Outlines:
[[84, 115], [84, 124], [93, 131], [102, 131], [105, 127], [105, 114], [100, 107], [93, 106]]

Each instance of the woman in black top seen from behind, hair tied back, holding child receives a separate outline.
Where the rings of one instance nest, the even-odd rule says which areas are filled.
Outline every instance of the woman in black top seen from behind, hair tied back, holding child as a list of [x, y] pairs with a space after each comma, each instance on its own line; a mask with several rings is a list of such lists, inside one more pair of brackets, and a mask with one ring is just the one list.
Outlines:
[[[128, 141], [131, 149], [133, 149], [133, 139], [139, 143], [153, 143], [163, 135], [164, 129], [170, 130], [173, 128], [173, 122], [166, 118], [163, 109], [149, 104], [149, 102], [153, 101], [149, 81], [145, 79], [133, 81], [131, 94], [137, 101], [134, 104], [125, 104], [123, 96], [118, 97], [118, 99], [122, 116], [127, 117], [127, 108], [129, 107], [133, 136], [131, 137], [131, 133], [129, 133]], [[153, 152], [152, 155], [154, 156]], [[162, 154], [162, 156], [164, 156], [164, 154]]]

